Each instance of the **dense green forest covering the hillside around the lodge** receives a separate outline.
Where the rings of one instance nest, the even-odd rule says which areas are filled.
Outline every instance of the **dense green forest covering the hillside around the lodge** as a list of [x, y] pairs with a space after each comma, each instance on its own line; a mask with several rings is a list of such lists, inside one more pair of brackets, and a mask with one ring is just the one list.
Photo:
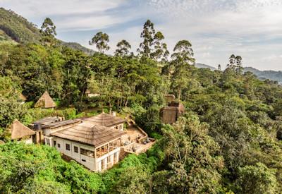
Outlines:
[[[114, 55], [105, 32], [90, 40], [91, 55], [60, 44], [50, 18], [38, 33], [36, 42], [0, 43], [0, 193], [282, 193], [282, 87], [243, 73], [241, 56], [196, 68], [192, 44], [179, 40], [170, 54], [150, 20], [137, 51], [121, 40]], [[59, 108], [33, 108], [46, 90]], [[159, 118], [166, 94], [185, 105], [173, 125]], [[97, 107], [130, 114], [157, 143], [95, 173], [54, 147], [8, 137], [14, 119], [74, 119]]]

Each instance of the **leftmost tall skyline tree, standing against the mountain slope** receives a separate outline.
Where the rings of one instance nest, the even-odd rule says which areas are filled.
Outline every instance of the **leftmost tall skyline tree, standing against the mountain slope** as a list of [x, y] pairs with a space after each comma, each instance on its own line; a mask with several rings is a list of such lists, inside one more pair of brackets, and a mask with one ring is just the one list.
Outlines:
[[45, 18], [44, 22], [42, 23], [40, 33], [42, 34], [42, 44], [51, 46], [56, 44], [56, 25], [54, 25], [50, 18]]

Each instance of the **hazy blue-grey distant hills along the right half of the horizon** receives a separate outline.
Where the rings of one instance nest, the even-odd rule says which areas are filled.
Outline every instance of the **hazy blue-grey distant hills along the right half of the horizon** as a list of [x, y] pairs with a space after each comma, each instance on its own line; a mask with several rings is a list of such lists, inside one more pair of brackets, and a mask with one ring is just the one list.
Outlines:
[[[195, 63], [195, 66], [197, 68], [209, 68], [212, 71], [216, 70], [216, 68], [214, 68], [213, 66], [209, 66], [204, 63]], [[257, 75], [257, 78], [261, 80], [269, 79], [269, 80], [278, 81], [278, 83], [282, 83], [282, 71], [272, 71], [272, 70], [260, 71], [257, 68], [245, 67], [244, 72], [247, 71], [254, 73], [255, 75]]]

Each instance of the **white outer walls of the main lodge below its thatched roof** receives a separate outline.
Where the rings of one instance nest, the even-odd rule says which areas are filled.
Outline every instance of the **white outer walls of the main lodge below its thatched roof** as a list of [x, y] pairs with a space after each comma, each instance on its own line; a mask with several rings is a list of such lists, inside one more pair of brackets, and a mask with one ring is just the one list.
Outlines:
[[49, 146], [56, 147], [56, 149], [68, 157], [75, 159], [78, 163], [87, 167], [91, 171], [103, 171], [118, 163], [120, 147], [104, 154], [102, 157], [94, 158], [85, 154], [81, 154], [81, 149], [95, 152], [94, 146], [84, 145], [70, 140], [57, 138], [54, 136], [45, 136], [45, 143]]

